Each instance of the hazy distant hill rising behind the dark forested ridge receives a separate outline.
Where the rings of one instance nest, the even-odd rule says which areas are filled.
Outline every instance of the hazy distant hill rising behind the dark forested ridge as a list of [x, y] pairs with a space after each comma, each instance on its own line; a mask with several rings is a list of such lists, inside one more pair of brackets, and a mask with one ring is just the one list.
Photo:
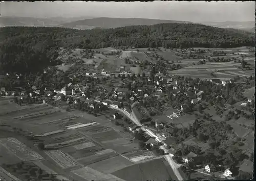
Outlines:
[[[160, 19], [143, 19], [143, 18], [93, 18], [84, 19], [74, 22], [69, 22], [59, 25], [65, 28], [79, 28], [81, 27], [99, 27], [99, 28], [118, 28], [131, 25], [153, 25], [160, 23], [191, 23], [188, 21], [173, 21], [173, 20], [160, 20]], [[83, 30], [83, 29], [82, 29]]]

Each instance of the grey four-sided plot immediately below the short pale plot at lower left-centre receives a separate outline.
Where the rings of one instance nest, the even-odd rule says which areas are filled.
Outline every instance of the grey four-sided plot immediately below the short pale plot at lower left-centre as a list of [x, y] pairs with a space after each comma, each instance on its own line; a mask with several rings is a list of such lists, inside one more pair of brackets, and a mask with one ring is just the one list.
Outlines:
[[79, 150], [68, 152], [68, 153], [75, 160], [78, 160], [78, 159], [81, 159], [81, 158], [84, 158], [84, 157], [92, 156], [93, 154], [95, 154], [95, 152], [101, 151], [101, 150], [103, 150], [103, 148], [96, 145], [96, 146], [93, 146], [93, 147], [79, 149]]

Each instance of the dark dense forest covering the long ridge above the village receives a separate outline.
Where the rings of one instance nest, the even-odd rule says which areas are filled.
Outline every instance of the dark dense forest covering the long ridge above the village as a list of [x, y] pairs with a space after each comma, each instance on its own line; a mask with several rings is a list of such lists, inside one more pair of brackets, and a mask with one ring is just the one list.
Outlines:
[[0, 28], [0, 68], [5, 72], [37, 72], [56, 65], [59, 47], [125, 49], [158, 47], [254, 46], [254, 34], [202, 24], [164, 23], [115, 29], [75, 30], [58, 27]]

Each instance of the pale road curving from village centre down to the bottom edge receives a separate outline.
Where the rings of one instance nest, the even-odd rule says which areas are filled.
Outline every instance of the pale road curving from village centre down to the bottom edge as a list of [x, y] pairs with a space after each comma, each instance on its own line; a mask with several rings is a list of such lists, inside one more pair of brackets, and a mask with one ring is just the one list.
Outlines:
[[[130, 113], [128, 113], [127, 111], [124, 111], [123, 109], [116, 108], [116, 107], [112, 107], [112, 106], [110, 106], [109, 108], [122, 112], [127, 118], [130, 118], [135, 124], [137, 124], [138, 126], [142, 126], [142, 124], [140, 123], [140, 121], [139, 121], [136, 117], [134, 117], [134, 116], [132, 116]], [[163, 143], [164, 145], [166, 145], [166, 144], [165, 144], [162, 140], [160, 140], [160, 139], [158, 138], [158, 136], [156, 136], [152, 131], [148, 130], [147, 128], [145, 128], [145, 127], [143, 127], [143, 126], [141, 127], [141, 130], [145, 131], [145, 132], [146, 132], [148, 135], [150, 135], [151, 137], [155, 137], [155, 140], [156, 140], [157, 142], [161, 142], [161, 143]], [[160, 148], [163, 149], [164, 152], [168, 152], [168, 150], [164, 147], [164, 145], [160, 146]], [[169, 154], [165, 154], [164, 158], [165, 158], [165, 160], [169, 163], [170, 167], [173, 169], [174, 174], [177, 176], [177, 178], [178, 178], [179, 180], [184, 180], [184, 179], [182, 178], [182, 176], [181, 176], [179, 170], [178, 170], [178, 167], [179, 167], [179, 166], [178, 166], [177, 163], [174, 162], [172, 156], [170, 156]]]

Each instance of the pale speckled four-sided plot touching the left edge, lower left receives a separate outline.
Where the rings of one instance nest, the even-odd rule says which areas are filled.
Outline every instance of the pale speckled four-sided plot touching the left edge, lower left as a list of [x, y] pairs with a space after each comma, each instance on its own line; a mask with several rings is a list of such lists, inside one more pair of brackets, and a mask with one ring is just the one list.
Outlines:
[[0, 143], [13, 152], [22, 161], [44, 159], [38, 153], [15, 138], [4, 138], [0, 140]]

